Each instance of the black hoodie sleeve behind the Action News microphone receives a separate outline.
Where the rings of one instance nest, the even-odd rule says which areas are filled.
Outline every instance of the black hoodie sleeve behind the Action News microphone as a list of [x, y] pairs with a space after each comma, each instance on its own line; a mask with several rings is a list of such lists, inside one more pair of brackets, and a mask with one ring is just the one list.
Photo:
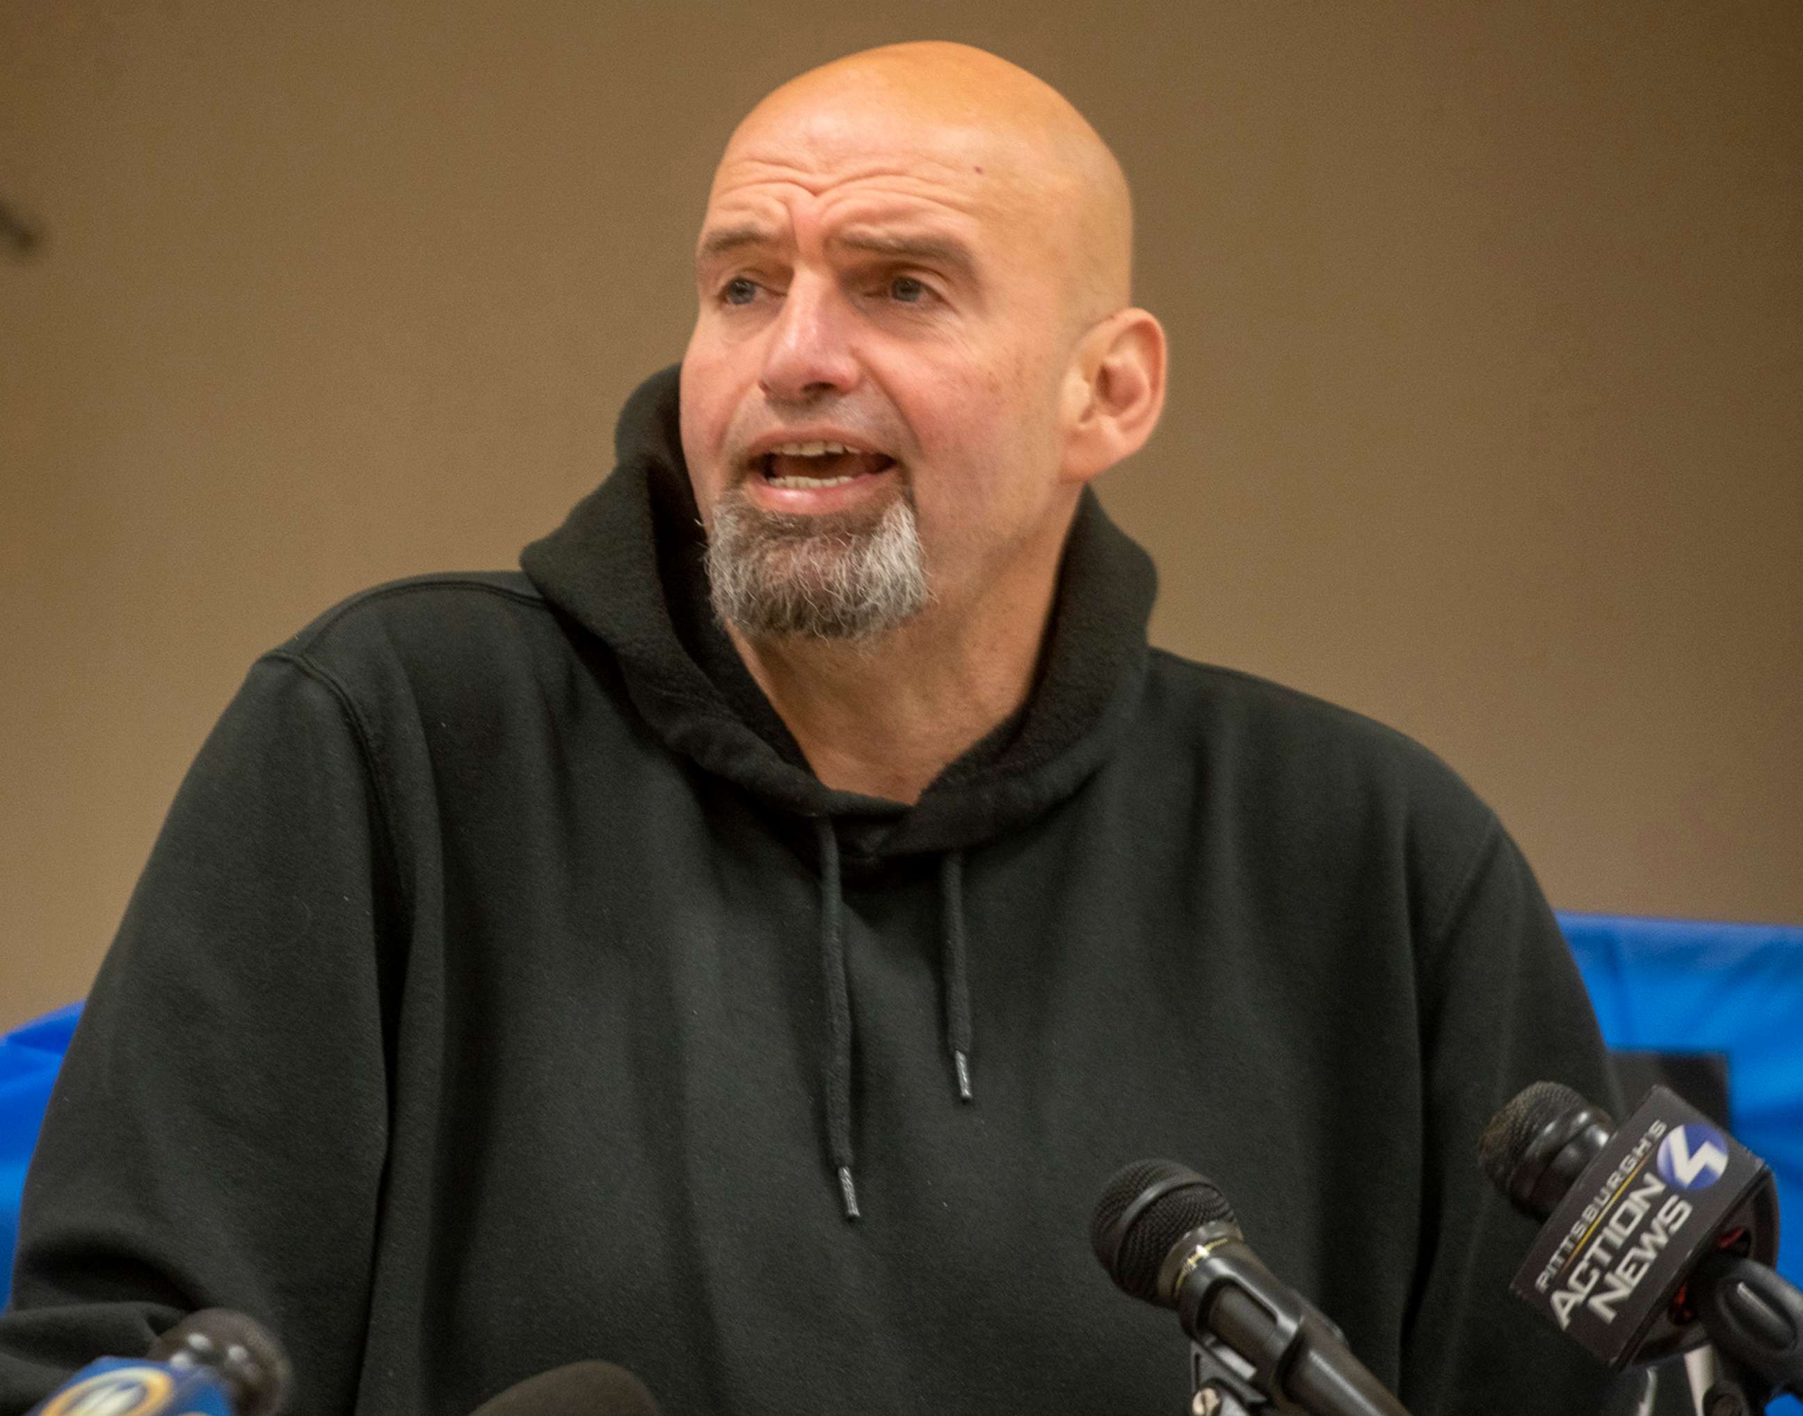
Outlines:
[[1401, 1396], [1415, 1416], [1597, 1416], [1621, 1382], [1509, 1293], [1536, 1230], [1477, 1160], [1484, 1126], [1534, 1080], [1621, 1115], [1596, 1016], [1502, 826], [1441, 913], [1423, 958], [1428, 1172]]

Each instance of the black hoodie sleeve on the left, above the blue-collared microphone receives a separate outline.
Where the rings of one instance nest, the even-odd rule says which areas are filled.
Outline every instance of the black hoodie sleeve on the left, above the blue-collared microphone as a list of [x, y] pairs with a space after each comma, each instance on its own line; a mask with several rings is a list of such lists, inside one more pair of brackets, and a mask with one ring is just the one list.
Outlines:
[[346, 702], [301, 660], [261, 660], [169, 810], [50, 1097], [0, 1416], [213, 1306], [287, 1346], [290, 1411], [352, 1409], [391, 878]]

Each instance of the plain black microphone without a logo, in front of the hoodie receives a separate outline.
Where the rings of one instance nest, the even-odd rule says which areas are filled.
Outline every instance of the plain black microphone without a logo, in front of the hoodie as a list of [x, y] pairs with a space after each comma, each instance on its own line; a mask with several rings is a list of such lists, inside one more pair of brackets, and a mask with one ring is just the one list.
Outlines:
[[1248, 1248], [1233, 1207], [1170, 1160], [1138, 1160], [1096, 1201], [1089, 1243], [1136, 1299], [1176, 1308], [1195, 1342], [1199, 1411], [1408, 1416], [1313, 1304]]

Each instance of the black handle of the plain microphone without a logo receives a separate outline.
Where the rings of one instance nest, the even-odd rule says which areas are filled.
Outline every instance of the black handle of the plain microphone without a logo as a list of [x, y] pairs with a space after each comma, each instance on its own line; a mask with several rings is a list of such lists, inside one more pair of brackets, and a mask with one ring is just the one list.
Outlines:
[[1197, 1342], [1217, 1340], [1253, 1367], [1253, 1384], [1296, 1416], [1408, 1416], [1307, 1301], [1244, 1243], [1212, 1248], [1185, 1277], [1177, 1315]]

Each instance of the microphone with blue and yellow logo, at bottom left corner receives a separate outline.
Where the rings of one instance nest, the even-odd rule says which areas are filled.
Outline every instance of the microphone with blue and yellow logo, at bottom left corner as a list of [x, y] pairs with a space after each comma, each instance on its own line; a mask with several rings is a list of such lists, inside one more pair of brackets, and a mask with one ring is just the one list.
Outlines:
[[90, 1362], [32, 1416], [276, 1416], [290, 1375], [281, 1346], [260, 1324], [204, 1308], [159, 1337], [142, 1360]]

